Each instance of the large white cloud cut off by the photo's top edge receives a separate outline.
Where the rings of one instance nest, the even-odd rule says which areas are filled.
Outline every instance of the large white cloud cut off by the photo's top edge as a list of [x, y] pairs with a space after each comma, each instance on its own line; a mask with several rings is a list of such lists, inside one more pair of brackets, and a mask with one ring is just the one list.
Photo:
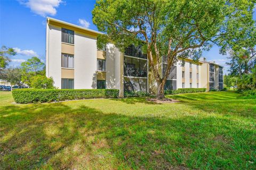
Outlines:
[[30, 10], [38, 15], [45, 17], [46, 15], [55, 15], [56, 8], [59, 7], [62, 0], [18, 0], [20, 4], [30, 8]]

